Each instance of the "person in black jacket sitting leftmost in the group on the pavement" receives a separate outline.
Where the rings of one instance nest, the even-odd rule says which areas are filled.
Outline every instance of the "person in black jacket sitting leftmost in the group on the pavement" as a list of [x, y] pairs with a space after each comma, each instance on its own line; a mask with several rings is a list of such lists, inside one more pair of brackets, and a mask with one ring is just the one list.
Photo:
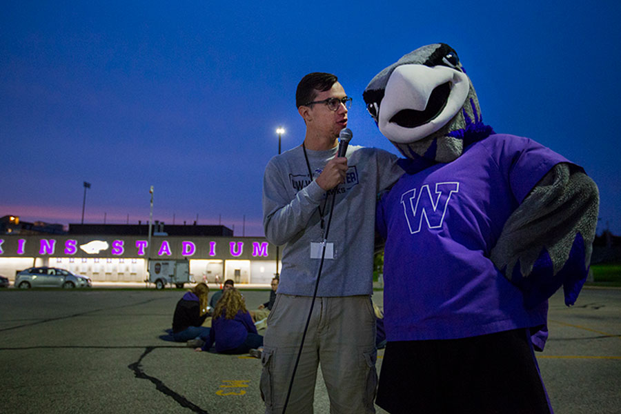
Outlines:
[[172, 317], [172, 337], [175, 342], [187, 342], [202, 335], [209, 335], [209, 328], [202, 326], [208, 316], [209, 287], [197, 284], [179, 299]]

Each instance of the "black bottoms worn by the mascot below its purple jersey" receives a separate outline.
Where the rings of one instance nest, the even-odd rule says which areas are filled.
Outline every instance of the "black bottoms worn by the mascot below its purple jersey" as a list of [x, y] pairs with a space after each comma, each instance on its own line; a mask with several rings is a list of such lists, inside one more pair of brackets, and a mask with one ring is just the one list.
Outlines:
[[552, 412], [527, 329], [388, 342], [375, 403], [391, 414]]

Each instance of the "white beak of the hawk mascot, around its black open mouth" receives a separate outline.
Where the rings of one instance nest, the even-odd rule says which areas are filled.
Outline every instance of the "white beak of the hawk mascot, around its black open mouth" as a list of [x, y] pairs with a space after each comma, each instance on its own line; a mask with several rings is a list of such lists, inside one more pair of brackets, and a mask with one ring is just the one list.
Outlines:
[[[407, 128], [391, 122], [400, 110], [422, 111], [427, 107], [431, 92], [444, 83], [450, 83], [451, 92], [444, 108], [426, 124]], [[470, 81], [464, 72], [446, 66], [405, 64], [395, 68], [386, 83], [380, 105], [377, 126], [393, 142], [409, 144], [433, 134], [448, 124], [460, 111], [468, 97]]]

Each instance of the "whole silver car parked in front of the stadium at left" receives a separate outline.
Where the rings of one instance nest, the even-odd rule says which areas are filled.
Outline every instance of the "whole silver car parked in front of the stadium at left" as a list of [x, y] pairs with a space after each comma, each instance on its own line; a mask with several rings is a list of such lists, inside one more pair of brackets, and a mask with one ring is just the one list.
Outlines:
[[69, 270], [38, 267], [21, 270], [15, 277], [13, 286], [28, 288], [90, 288], [90, 278], [76, 275]]

